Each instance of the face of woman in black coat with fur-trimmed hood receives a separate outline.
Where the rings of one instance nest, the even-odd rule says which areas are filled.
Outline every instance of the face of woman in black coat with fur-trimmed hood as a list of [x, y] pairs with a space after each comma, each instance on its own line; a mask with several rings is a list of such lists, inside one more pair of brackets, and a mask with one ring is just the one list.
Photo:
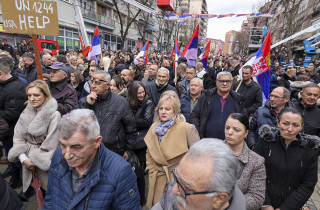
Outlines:
[[302, 117], [299, 114], [285, 112], [280, 121], [276, 120], [280, 135], [285, 140], [294, 140], [298, 132], [302, 129]]

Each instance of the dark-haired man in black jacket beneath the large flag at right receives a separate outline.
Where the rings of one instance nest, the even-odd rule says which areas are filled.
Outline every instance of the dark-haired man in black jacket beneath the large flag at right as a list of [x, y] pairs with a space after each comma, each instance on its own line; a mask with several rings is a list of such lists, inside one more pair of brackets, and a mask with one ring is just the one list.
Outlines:
[[232, 86], [232, 89], [236, 90], [239, 83], [241, 82], [241, 85], [237, 92], [245, 97], [244, 107], [248, 116], [253, 114], [254, 111], [262, 105], [262, 87], [260, 86], [260, 84], [253, 81], [251, 75], [252, 75], [251, 65], [243, 66], [242, 67], [243, 81], [242, 82], [241, 80], [236, 81]]

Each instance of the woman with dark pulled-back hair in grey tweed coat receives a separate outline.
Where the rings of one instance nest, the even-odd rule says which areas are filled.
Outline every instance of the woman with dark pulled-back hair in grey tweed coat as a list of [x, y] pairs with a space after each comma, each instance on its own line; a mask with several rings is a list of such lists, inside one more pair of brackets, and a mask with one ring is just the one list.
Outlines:
[[251, 151], [245, 143], [249, 132], [248, 117], [232, 113], [225, 122], [225, 142], [237, 156], [238, 169], [236, 185], [245, 198], [246, 209], [260, 209], [265, 196], [264, 158]]

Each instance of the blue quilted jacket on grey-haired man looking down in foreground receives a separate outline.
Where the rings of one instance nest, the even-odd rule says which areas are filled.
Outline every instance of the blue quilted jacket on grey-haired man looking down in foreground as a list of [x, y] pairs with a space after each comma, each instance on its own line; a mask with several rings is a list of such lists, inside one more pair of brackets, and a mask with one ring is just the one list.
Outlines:
[[123, 157], [111, 152], [101, 143], [82, 187], [72, 191], [72, 171], [61, 149], [56, 149], [50, 169], [46, 209], [116, 209], [140, 210], [136, 176]]

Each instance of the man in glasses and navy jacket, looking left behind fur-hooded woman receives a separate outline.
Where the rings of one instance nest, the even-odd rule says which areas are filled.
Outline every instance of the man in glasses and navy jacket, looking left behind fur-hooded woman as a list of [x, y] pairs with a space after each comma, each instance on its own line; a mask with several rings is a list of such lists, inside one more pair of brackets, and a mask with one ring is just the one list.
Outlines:
[[289, 101], [290, 91], [285, 87], [276, 87], [269, 94], [269, 99], [265, 101], [253, 114], [250, 121], [247, 145], [253, 149], [259, 139], [258, 130], [263, 124], [277, 127], [276, 119], [280, 111], [285, 107], [294, 107]]

